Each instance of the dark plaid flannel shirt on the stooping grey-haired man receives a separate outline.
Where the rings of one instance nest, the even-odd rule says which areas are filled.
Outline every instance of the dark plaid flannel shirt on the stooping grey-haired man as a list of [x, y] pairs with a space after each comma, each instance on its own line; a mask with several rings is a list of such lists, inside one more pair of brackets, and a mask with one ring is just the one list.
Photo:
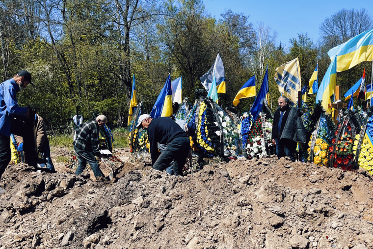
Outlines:
[[96, 120], [87, 121], [76, 129], [77, 138], [73, 142], [78, 149], [100, 154], [100, 127]]

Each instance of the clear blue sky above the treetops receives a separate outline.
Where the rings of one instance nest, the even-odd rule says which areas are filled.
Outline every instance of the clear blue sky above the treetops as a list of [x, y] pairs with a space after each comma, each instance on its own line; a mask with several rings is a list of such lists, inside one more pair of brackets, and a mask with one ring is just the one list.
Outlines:
[[203, 0], [206, 10], [215, 19], [220, 19], [224, 10], [249, 15], [254, 28], [263, 22], [277, 33], [276, 45], [281, 41], [289, 47], [289, 38], [298, 38], [298, 33], [308, 35], [316, 44], [320, 25], [337, 11], [365, 8], [373, 17], [373, 0]]

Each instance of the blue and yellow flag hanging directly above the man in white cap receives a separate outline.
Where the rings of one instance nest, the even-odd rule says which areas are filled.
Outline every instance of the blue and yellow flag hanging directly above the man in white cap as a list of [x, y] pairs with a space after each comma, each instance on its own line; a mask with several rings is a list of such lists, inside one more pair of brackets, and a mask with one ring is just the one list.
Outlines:
[[172, 90], [171, 90], [171, 79], [168, 75], [166, 83], [160, 90], [160, 95], [158, 95], [157, 101], [153, 106], [150, 116], [152, 118], [158, 117], [170, 117], [173, 114], [172, 109]]

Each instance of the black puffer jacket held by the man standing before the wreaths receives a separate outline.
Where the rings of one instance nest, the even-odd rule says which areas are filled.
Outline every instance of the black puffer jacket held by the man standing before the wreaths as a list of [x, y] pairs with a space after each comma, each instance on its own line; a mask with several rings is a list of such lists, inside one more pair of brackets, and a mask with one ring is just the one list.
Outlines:
[[290, 109], [280, 140], [282, 138], [289, 138], [295, 142], [306, 142], [306, 128], [303, 125], [302, 115], [303, 112], [299, 108], [292, 107]]

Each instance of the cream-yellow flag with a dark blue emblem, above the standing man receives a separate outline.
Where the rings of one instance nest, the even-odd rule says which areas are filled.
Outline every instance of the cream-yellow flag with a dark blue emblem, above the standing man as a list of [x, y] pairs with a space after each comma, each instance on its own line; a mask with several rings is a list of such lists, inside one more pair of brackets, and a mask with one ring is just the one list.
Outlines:
[[301, 91], [298, 57], [276, 68], [274, 80], [278, 84], [278, 91], [296, 103], [298, 92]]

